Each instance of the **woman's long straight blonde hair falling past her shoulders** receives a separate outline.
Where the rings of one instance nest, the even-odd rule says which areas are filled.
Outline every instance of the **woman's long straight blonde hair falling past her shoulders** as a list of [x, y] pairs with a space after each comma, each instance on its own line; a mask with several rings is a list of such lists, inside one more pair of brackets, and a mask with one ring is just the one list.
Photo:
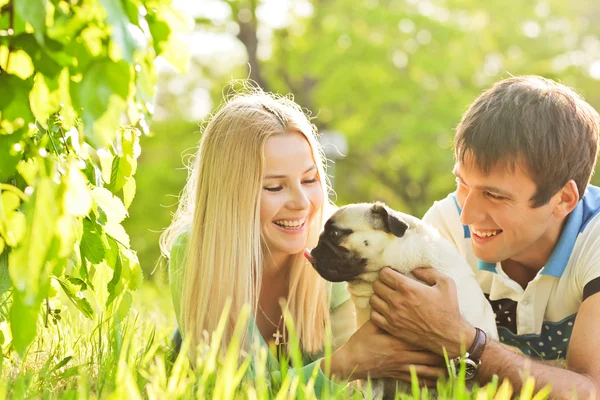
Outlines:
[[[217, 327], [227, 299], [232, 303], [225, 345], [244, 304], [250, 304], [256, 315], [264, 265], [260, 229], [264, 147], [271, 136], [288, 132], [306, 137], [324, 193], [323, 206], [308, 228], [307, 247], [314, 247], [324, 223], [329, 186], [316, 128], [302, 109], [291, 98], [260, 91], [238, 94], [213, 115], [204, 130], [179, 208], [161, 236], [161, 249], [168, 257], [175, 238], [191, 226], [181, 309], [176, 310], [182, 333], [191, 336], [191, 356], [202, 331], [213, 332]], [[302, 349], [312, 354], [325, 343], [328, 286], [302, 254], [293, 259], [287, 306]]]

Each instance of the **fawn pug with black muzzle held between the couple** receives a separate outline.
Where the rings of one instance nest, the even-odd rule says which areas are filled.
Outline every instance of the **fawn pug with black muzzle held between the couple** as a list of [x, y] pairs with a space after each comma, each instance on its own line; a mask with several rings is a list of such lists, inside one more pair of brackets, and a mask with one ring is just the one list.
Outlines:
[[[382, 268], [391, 267], [416, 279], [413, 269], [432, 267], [456, 283], [461, 314], [488, 337], [498, 338], [491, 305], [458, 250], [433, 226], [383, 203], [350, 204], [338, 209], [325, 223], [317, 246], [307, 252], [307, 258], [324, 279], [348, 282], [357, 326], [370, 318], [372, 284]], [[396, 382], [378, 380], [373, 387], [382, 397], [393, 398]]]

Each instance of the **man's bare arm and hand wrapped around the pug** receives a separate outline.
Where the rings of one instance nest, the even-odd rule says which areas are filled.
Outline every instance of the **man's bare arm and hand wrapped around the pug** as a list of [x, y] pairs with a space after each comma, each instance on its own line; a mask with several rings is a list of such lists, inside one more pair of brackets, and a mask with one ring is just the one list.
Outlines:
[[[449, 357], [460, 354], [461, 347], [469, 347], [475, 329], [460, 315], [456, 287], [449, 277], [432, 268], [417, 269], [413, 274], [430, 286], [407, 278], [386, 268], [373, 286], [371, 298], [373, 322], [401, 340], [421, 345], [442, 354], [446, 348]], [[482, 354], [478, 380], [489, 382], [493, 375], [507, 378], [519, 391], [523, 371], [536, 380], [537, 389], [552, 385], [551, 396], [594, 399], [600, 394], [600, 295], [586, 299], [573, 327], [568, 351], [568, 370], [536, 362], [516, 354], [499, 342], [488, 340]], [[465, 346], [467, 344], [467, 346]]]

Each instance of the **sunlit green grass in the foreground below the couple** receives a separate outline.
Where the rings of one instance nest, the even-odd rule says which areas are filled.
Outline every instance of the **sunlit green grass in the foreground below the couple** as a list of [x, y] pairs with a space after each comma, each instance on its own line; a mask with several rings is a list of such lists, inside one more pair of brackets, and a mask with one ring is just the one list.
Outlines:
[[[316, 398], [313, 380], [303, 383], [298, 377], [280, 371], [271, 379], [265, 369], [267, 350], [255, 348], [254, 378], [248, 378], [251, 358], [236, 350], [241, 328], [227, 351], [219, 352], [220, 335], [200, 347], [197, 367], [192, 369], [183, 353], [172, 357], [170, 337], [175, 325], [168, 288], [146, 283], [134, 298], [131, 311], [117, 323], [112, 318], [88, 320], [74, 307], [60, 306], [60, 320], [40, 321], [39, 336], [21, 357], [10, 347], [5, 322], [0, 322], [5, 339], [0, 371], [0, 400], [13, 399], [312, 399]], [[1, 302], [0, 321], [7, 311]], [[53, 314], [54, 315], [54, 314]], [[246, 314], [240, 317], [244, 321]], [[240, 325], [241, 326], [241, 325]], [[293, 327], [292, 331], [293, 331]], [[294, 342], [294, 335], [292, 342]], [[184, 343], [184, 347], [187, 343]], [[292, 345], [293, 366], [301, 362]], [[534, 382], [528, 379], [521, 399], [544, 399], [548, 389], [534, 396]], [[369, 386], [362, 389], [369, 391]], [[439, 399], [510, 399], [507, 382], [494, 380], [481, 389], [469, 391], [464, 378], [440, 381]], [[400, 399], [428, 399], [430, 391], [414, 380]], [[362, 398], [358, 391], [323, 393], [321, 398]]]

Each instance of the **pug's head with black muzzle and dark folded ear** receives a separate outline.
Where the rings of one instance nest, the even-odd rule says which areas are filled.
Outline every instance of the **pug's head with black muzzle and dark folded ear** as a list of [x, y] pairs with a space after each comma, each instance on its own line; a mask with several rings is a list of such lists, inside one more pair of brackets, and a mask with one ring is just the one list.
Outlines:
[[398, 214], [382, 203], [340, 208], [325, 224], [311, 252], [314, 268], [331, 282], [353, 281], [381, 269], [377, 260], [383, 250], [409, 227]]

